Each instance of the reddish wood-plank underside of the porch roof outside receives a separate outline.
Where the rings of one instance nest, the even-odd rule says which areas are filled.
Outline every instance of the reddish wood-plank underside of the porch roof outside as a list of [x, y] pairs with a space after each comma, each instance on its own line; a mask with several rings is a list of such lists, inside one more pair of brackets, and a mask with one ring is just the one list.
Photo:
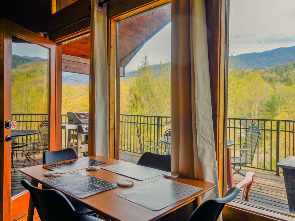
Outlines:
[[[117, 56], [120, 57], [119, 67], [124, 68], [140, 48], [170, 21], [171, 3], [118, 21], [119, 43], [117, 45]], [[89, 59], [90, 36], [62, 45], [62, 53], [69, 56]], [[73, 60], [75, 59], [72, 59], [72, 61]], [[69, 65], [68, 61], [67, 64]], [[85, 64], [85, 60], [83, 60], [82, 66], [85, 67]], [[75, 64], [75, 67], [77, 68], [77, 64]], [[68, 66], [67, 70], [73, 71], [73, 68]], [[83, 73], [85, 73], [85, 71]]]

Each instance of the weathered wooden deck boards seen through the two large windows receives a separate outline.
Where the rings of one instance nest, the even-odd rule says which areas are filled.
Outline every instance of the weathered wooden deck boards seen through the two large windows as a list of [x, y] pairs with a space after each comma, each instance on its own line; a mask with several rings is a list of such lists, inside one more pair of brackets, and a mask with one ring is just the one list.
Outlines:
[[[139, 158], [140, 155], [120, 152], [120, 160], [122, 161], [137, 163]], [[249, 170], [250, 169], [248, 168], [243, 168], [241, 172], [246, 174]], [[276, 176], [274, 174], [261, 171], [254, 172], [256, 174], [254, 181], [262, 187], [262, 190], [257, 184], [254, 183], [252, 185], [249, 196], [250, 203], [258, 207], [263, 207], [274, 211], [289, 212], [283, 176]], [[243, 179], [243, 176], [235, 174], [234, 184], [238, 184]]]

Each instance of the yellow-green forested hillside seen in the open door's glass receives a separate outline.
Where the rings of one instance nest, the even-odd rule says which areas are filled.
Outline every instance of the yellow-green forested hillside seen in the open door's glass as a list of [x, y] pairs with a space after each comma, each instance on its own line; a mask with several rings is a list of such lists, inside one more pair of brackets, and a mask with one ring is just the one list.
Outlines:
[[48, 113], [48, 60], [12, 55], [12, 113]]

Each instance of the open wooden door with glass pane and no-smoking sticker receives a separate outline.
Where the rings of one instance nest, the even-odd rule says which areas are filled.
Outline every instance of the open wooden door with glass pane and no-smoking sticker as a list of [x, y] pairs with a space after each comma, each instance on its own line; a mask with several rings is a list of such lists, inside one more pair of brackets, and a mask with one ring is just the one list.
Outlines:
[[[0, 19], [0, 220], [16, 220], [28, 210], [29, 193], [19, 185], [16, 165], [40, 164], [42, 151], [55, 150], [55, 66], [54, 42]], [[8, 120], [38, 134], [18, 137], [12, 151]]]

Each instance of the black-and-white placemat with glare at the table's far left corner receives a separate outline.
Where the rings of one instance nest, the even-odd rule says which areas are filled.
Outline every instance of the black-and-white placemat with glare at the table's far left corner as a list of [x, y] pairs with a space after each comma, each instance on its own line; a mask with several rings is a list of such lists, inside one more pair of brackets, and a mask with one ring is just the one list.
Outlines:
[[103, 164], [106, 164], [106, 162], [93, 160], [88, 157], [82, 157], [74, 161], [43, 166], [43, 168], [54, 170], [60, 173], [70, 173], [77, 170], [86, 169], [88, 166], [99, 166]]

